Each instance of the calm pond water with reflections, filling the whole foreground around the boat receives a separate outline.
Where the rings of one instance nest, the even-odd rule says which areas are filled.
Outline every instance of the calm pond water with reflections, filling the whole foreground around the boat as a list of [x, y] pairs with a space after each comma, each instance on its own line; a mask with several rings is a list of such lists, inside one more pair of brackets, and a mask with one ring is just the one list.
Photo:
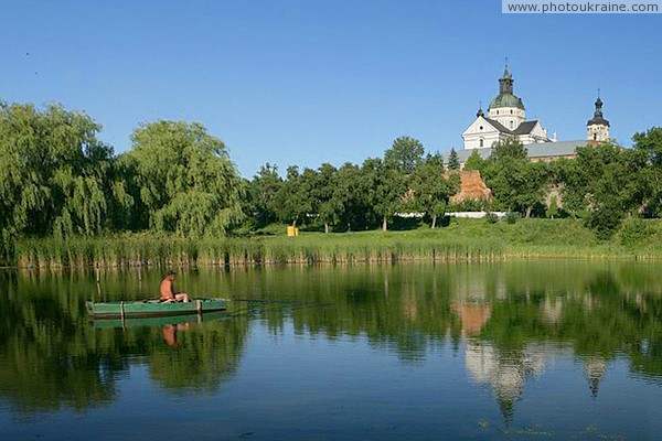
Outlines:
[[253, 301], [89, 323], [156, 271], [0, 272], [2, 440], [662, 439], [662, 265], [183, 272]]

